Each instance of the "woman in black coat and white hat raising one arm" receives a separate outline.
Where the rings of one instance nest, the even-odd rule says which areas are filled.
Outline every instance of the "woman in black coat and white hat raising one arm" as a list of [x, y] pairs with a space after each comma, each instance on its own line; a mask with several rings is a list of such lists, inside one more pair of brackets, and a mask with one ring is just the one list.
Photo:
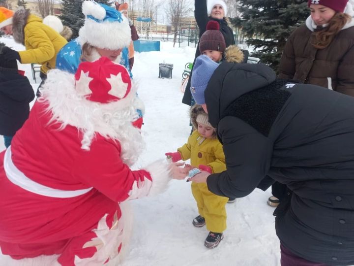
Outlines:
[[[214, 20], [220, 24], [219, 30], [224, 36], [226, 47], [235, 44], [233, 30], [228, 26], [227, 19], [226, 19], [227, 7], [225, 2], [222, 0], [212, 0], [209, 1], [209, 3], [211, 6], [210, 16], [208, 16], [208, 12], [207, 12], [207, 0], [194, 0], [194, 16], [199, 28], [199, 38], [207, 30], [208, 21]], [[198, 56], [200, 56], [199, 43], [197, 46], [193, 65], [195, 63], [195, 59]], [[247, 58], [248, 58], [248, 52], [247, 52]], [[245, 59], [246, 62], [247, 62], [247, 58]], [[191, 81], [192, 74], [193, 74], [193, 69], [190, 72], [188, 83], [186, 85], [183, 99], [182, 99], [183, 103], [188, 104], [190, 106], [194, 104], [194, 102], [192, 102], [193, 99], [190, 93], [190, 81]]]

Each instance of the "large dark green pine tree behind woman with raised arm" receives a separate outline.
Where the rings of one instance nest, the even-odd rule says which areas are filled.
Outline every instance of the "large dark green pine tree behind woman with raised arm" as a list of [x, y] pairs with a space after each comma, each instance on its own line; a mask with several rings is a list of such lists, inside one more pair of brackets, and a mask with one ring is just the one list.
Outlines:
[[290, 34], [305, 22], [310, 11], [304, 0], [238, 0], [241, 17], [231, 19], [257, 51], [252, 56], [278, 71]]

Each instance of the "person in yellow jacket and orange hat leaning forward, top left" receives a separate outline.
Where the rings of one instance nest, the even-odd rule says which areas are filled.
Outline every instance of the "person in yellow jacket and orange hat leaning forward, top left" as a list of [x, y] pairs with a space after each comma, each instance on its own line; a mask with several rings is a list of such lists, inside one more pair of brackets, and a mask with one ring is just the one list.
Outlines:
[[25, 51], [20, 52], [4, 47], [2, 54], [5, 60], [16, 59], [22, 64], [42, 65], [40, 87], [47, 78], [47, 71], [55, 68], [57, 54], [67, 43], [65, 38], [23, 7], [16, 12], [0, 7], [0, 31], [12, 35], [16, 42], [26, 47]]

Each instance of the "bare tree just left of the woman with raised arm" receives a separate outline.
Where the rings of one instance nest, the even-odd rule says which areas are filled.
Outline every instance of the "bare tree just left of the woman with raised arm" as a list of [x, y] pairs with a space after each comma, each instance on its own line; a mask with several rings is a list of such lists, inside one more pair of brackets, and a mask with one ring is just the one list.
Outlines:
[[166, 15], [171, 23], [174, 33], [174, 47], [177, 41], [178, 29], [180, 29], [182, 17], [187, 13], [185, 0], [169, 0]]

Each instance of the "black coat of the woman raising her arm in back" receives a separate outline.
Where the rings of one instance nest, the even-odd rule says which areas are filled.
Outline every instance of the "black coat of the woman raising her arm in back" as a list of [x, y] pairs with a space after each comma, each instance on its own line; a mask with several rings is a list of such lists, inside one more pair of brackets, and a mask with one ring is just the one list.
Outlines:
[[[219, 20], [219, 19], [213, 19], [211, 17], [208, 17], [207, 15], [207, 0], [194, 0], [194, 16], [198, 24], [199, 28], [199, 38], [207, 31], [207, 23], [209, 20], [214, 20], [217, 21], [220, 25], [219, 31], [223, 34], [224, 39], [225, 39], [225, 44], [226, 47], [235, 44], [235, 38], [234, 38], [234, 33], [233, 30], [228, 26], [228, 23], [225, 20]], [[245, 51], [247, 53], [247, 58], [248, 58], [248, 51]], [[200, 56], [199, 52], [199, 43], [197, 45], [197, 50], [195, 54], [195, 58], [193, 61], [193, 65], [195, 64], [195, 60], [198, 56]], [[247, 62], [247, 59], [245, 59]], [[192, 94], [190, 92], [190, 82], [191, 82], [191, 77], [192, 77], [192, 72], [190, 73], [188, 83], [186, 85], [182, 103], [191, 105], [191, 98]]]

